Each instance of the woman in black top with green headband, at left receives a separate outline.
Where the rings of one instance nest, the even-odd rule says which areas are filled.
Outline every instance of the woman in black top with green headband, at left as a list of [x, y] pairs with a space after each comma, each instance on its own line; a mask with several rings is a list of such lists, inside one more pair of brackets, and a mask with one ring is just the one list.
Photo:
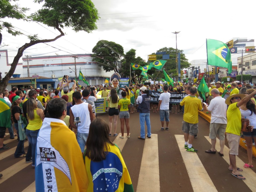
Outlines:
[[22, 114], [21, 112], [21, 107], [19, 107], [19, 105], [22, 103], [21, 98], [16, 95], [15, 97], [13, 97], [13, 102], [11, 104], [11, 114], [13, 117], [13, 121], [14, 121], [14, 127], [18, 133], [18, 145], [16, 147], [15, 153], [14, 153], [14, 157], [25, 157], [26, 156], [26, 152], [24, 151], [24, 141], [25, 140], [20, 140], [19, 138], [19, 126], [18, 126], [18, 120], [19, 120], [19, 116]]

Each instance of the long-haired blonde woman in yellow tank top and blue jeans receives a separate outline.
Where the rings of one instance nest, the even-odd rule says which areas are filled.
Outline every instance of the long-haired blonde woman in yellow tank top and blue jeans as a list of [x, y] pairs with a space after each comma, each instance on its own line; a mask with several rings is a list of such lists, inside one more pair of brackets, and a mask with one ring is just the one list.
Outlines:
[[32, 147], [32, 167], [35, 167], [35, 150], [37, 144], [37, 135], [43, 123], [43, 110], [37, 108], [37, 102], [34, 98], [30, 98], [27, 102], [27, 125], [26, 135]]

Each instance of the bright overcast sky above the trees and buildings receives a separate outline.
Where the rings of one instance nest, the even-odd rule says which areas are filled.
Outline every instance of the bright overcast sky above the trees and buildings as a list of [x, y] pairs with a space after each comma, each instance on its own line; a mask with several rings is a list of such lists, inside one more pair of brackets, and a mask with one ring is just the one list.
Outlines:
[[[75, 33], [63, 29], [66, 34], [51, 46], [40, 43], [25, 50], [25, 55], [47, 56], [92, 53], [99, 40], [113, 41], [123, 46], [125, 53], [135, 49], [137, 56], [147, 61], [147, 55], [162, 47], [182, 49], [189, 61], [206, 59], [206, 38], [227, 42], [233, 37], [256, 39], [256, 1], [229, 0], [92, 0], [101, 17], [98, 30], [92, 33]], [[20, 0], [19, 4], [34, 12], [42, 4], [32, 0]], [[54, 38], [58, 31], [34, 22], [12, 21], [24, 34], [38, 34], [39, 38]], [[2, 31], [9, 63], [13, 61], [18, 47], [29, 42], [26, 36], [13, 37]], [[59, 51], [59, 49], [61, 51]], [[50, 53], [52, 52], [52, 53]], [[21, 62], [21, 60], [20, 60]]]

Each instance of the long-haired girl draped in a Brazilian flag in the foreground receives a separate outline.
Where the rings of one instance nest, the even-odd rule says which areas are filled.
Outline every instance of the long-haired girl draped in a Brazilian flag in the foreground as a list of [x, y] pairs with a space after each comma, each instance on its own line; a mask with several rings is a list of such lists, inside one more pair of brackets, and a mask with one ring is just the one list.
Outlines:
[[96, 118], [91, 122], [84, 152], [85, 170], [89, 178], [87, 191], [97, 191], [103, 186], [106, 191], [114, 191], [113, 184], [115, 191], [133, 191], [121, 152], [110, 141], [108, 134], [109, 126], [104, 119]]

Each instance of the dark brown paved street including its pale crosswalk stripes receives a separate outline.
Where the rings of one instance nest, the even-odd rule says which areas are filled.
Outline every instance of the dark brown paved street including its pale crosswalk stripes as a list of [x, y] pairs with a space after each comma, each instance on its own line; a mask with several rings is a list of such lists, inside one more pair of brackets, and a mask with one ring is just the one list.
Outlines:
[[[131, 176], [134, 191], [256, 191], [256, 161], [253, 168], [243, 168], [247, 163], [247, 153], [239, 147], [237, 166], [242, 168], [241, 174], [246, 177], [242, 181], [231, 175], [229, 166], [229, 149], [225, 143], [224, 157], [218, 153], [208, 154], [211, 148], [209, 139], [209, 122], [199, 117], [198, 138], [193, 146], [197, 153], [184, 149], [184, 137], [181, 131], [182, 113], [170, 114], [169, 130], [161, 131], [159, 112], [151, 113], [151, 139], [140, 140], [138, 113], [130, 114], [130, 138], [121, 139], [118, 119], [117, 137], [111, 137], [122, 151], [123, 158]], [[98, 117], [108, 121], [107, 114]], [[125, 131], [126, 132], [126, 131]], [[113, 135], [113, 133], [112, 133]], [[68, 138], [66, 138], [68, 139]], [[14, 158], [17, 137], [14, 140], [6, 136], [5, 144], [11, 149], [0, 152], [1, 191], [35, 191], [34, 169], [25, 158]], [[27, 141], [25, 147], [27, 149]], [[216, 149], [219, 150], [217, 141]], [[79, 166], [79, 165], [78, 165]], [[83, 167], [83, 165], [80, 165]]]

